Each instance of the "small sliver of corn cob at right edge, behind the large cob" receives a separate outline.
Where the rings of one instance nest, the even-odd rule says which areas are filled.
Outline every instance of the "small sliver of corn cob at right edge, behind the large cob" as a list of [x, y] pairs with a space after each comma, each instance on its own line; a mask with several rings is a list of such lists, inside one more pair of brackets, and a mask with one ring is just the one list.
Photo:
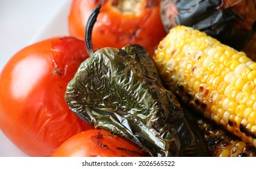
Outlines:
[[247, 43], [247, 45], [243, 48], [243, 52], [256, 62], [256, 33], [252, 36], [252, 39]]

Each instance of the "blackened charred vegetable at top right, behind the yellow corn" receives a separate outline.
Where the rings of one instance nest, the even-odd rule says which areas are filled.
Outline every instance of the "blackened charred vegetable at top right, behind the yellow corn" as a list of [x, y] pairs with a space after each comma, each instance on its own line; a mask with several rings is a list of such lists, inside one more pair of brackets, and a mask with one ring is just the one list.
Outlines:
[[162, 0], [161, 18], [169, 32], [177, 25], [204, 31], [241, 50], [255, 31], [255, 0]]

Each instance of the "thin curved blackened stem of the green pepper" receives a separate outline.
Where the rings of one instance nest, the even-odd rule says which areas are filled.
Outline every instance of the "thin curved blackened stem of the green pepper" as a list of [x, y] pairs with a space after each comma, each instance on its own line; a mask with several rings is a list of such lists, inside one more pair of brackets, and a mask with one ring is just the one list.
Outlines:
[[99, 4], [97, 7], [95, 7], [92, 10], [92, 13], [90, 14], [86, 24], [85, 42], [86, 42], [87, 53], [89, 54], [89, 56], [92, 56], [94, 53], [93, 46], [92, 46], [92, 30], [97, 20], [100, 8], [101, 8], [101, 4]]

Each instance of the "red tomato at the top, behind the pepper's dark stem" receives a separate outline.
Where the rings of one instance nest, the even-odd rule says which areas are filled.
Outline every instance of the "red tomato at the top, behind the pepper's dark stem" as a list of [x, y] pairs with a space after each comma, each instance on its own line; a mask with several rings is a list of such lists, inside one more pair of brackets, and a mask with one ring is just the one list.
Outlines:
[[104, 4], [93, 27], [93, 45], [122, 48], [136, 43], [153, 54], [155, 46], [166, 36], [159, 0], [73, 0], [69, 13], [70, 34], [84, 39], [87, 19], [93, 8], [102, 2]]

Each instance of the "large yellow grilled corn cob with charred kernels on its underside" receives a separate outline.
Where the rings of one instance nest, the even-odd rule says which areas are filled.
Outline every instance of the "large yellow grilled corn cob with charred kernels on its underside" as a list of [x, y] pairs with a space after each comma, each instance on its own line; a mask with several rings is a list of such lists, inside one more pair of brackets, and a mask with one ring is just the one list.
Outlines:
[[172, 28], [153, 56], [181, 104], [256, 146], [256, 63], [189, 27]]

